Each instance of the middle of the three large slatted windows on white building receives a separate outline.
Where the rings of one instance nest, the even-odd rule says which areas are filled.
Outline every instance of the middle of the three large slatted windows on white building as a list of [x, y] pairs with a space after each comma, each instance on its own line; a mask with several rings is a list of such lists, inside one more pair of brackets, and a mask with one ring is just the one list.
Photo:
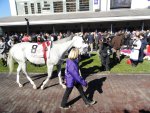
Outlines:
[[66, 9], [67, 9], [67, 12], [75, 12], [76, 0], [66, 0]]

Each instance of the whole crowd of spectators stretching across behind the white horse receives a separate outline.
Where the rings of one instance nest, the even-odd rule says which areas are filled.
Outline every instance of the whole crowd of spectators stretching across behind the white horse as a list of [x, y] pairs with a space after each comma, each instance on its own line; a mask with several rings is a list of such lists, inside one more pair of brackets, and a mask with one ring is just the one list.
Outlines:
[[[7, 56], [5, 53], [15, 44], [20, 42], [43, 42], [47, 40], [60, 40], [62, 38], [68, 37], [69, 35], [80, 35], [83, 37], [85, 43], [88, 44], [89, 53], [99, 51], [99, 56], [101, 59], [102, 70], [110, 70], [110, 63], [117, 64], [120, 62], [120, 50], [122, 47], [126, 47], [131, 50], [130, 60], [133, 66], [136, 66], [139, 62], [143, 62], [144, 56], [148, 55], [145, 52], [146, 47], [150, 43], [150, 31], [117, 31], [111, 33], [105, 32], [85, 32], [85, 33], [32, 33], [28, 35], [26, 33], [14, 33], [13, 35], [5, 35], [0, 37], [0, 54]], [[137, 41], [139, 39], [139, 41]], [[141, 44], [139, 44], [141, 42]], [[135, 45], [139, 45], [136, 47]], [[147, 47], [148, 48], [148, 47]], [[7, 52], [6, 52], [7, 51]], [[136, 52], [139, 51], [139, 52]], [[134, 55], [137, 53], [137, 55]], [[113, 56], [113, 60], [110, 61], [110, 56]], [[90, 56], [90, 54], [89, 54]], [[133, 58], [137, 56], [137, 58]], [[6, 60], [6, 59], [5, 59]], [[5, 62], [3, 59], [3, 62]], [[6, 66], [6, 63], [3, 63]]]

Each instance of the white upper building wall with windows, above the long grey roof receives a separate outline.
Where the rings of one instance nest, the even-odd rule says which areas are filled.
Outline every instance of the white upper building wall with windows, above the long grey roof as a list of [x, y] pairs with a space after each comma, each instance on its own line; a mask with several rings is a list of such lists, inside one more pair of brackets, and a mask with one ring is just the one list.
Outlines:
[[142, 9], [150, 0], [9, 0], [12, 16]]

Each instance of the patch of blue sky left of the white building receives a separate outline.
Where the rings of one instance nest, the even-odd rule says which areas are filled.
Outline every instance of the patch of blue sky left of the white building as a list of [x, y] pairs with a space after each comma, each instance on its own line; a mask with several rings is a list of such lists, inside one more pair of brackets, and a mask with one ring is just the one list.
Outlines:
[[0, 18], [11, 16], [9, 0], [0, 0]]

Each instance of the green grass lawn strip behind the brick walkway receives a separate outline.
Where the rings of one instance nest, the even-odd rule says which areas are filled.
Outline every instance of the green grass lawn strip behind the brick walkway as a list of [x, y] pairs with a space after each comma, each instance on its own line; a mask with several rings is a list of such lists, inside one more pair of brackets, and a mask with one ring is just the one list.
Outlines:
[[[113, 66], [110, 70], [110, 73], [122, 73], [122, 74], [132, 74], [132, 73], [150, 73], [150, 61], [145, 60], [143, 63], [138, 64], [137, 67], [132, 67], [126, 63], [128, 58], [123, 58], [120, 64]], [[80, 69], [82, 74], [93, 74], [93, 73], [105, 73], [100, 70], [100, 59], [98, 53], [93, 52], [90, 58], [82, 58], [80, 61]], [[17, 63], [15, 63], [14, 72], [16, 72]], [[65, 63], [63, 64], [63, 71]], [[28, 62], [27, 70], [31, 73], [47, 73], [46, 66], [34, 66]], [[56, 67], [54, 67], [56, 71]], [[2, 62], [0, 61], [0, 72], [8, 72], [8, 67], [3, 67]]]

